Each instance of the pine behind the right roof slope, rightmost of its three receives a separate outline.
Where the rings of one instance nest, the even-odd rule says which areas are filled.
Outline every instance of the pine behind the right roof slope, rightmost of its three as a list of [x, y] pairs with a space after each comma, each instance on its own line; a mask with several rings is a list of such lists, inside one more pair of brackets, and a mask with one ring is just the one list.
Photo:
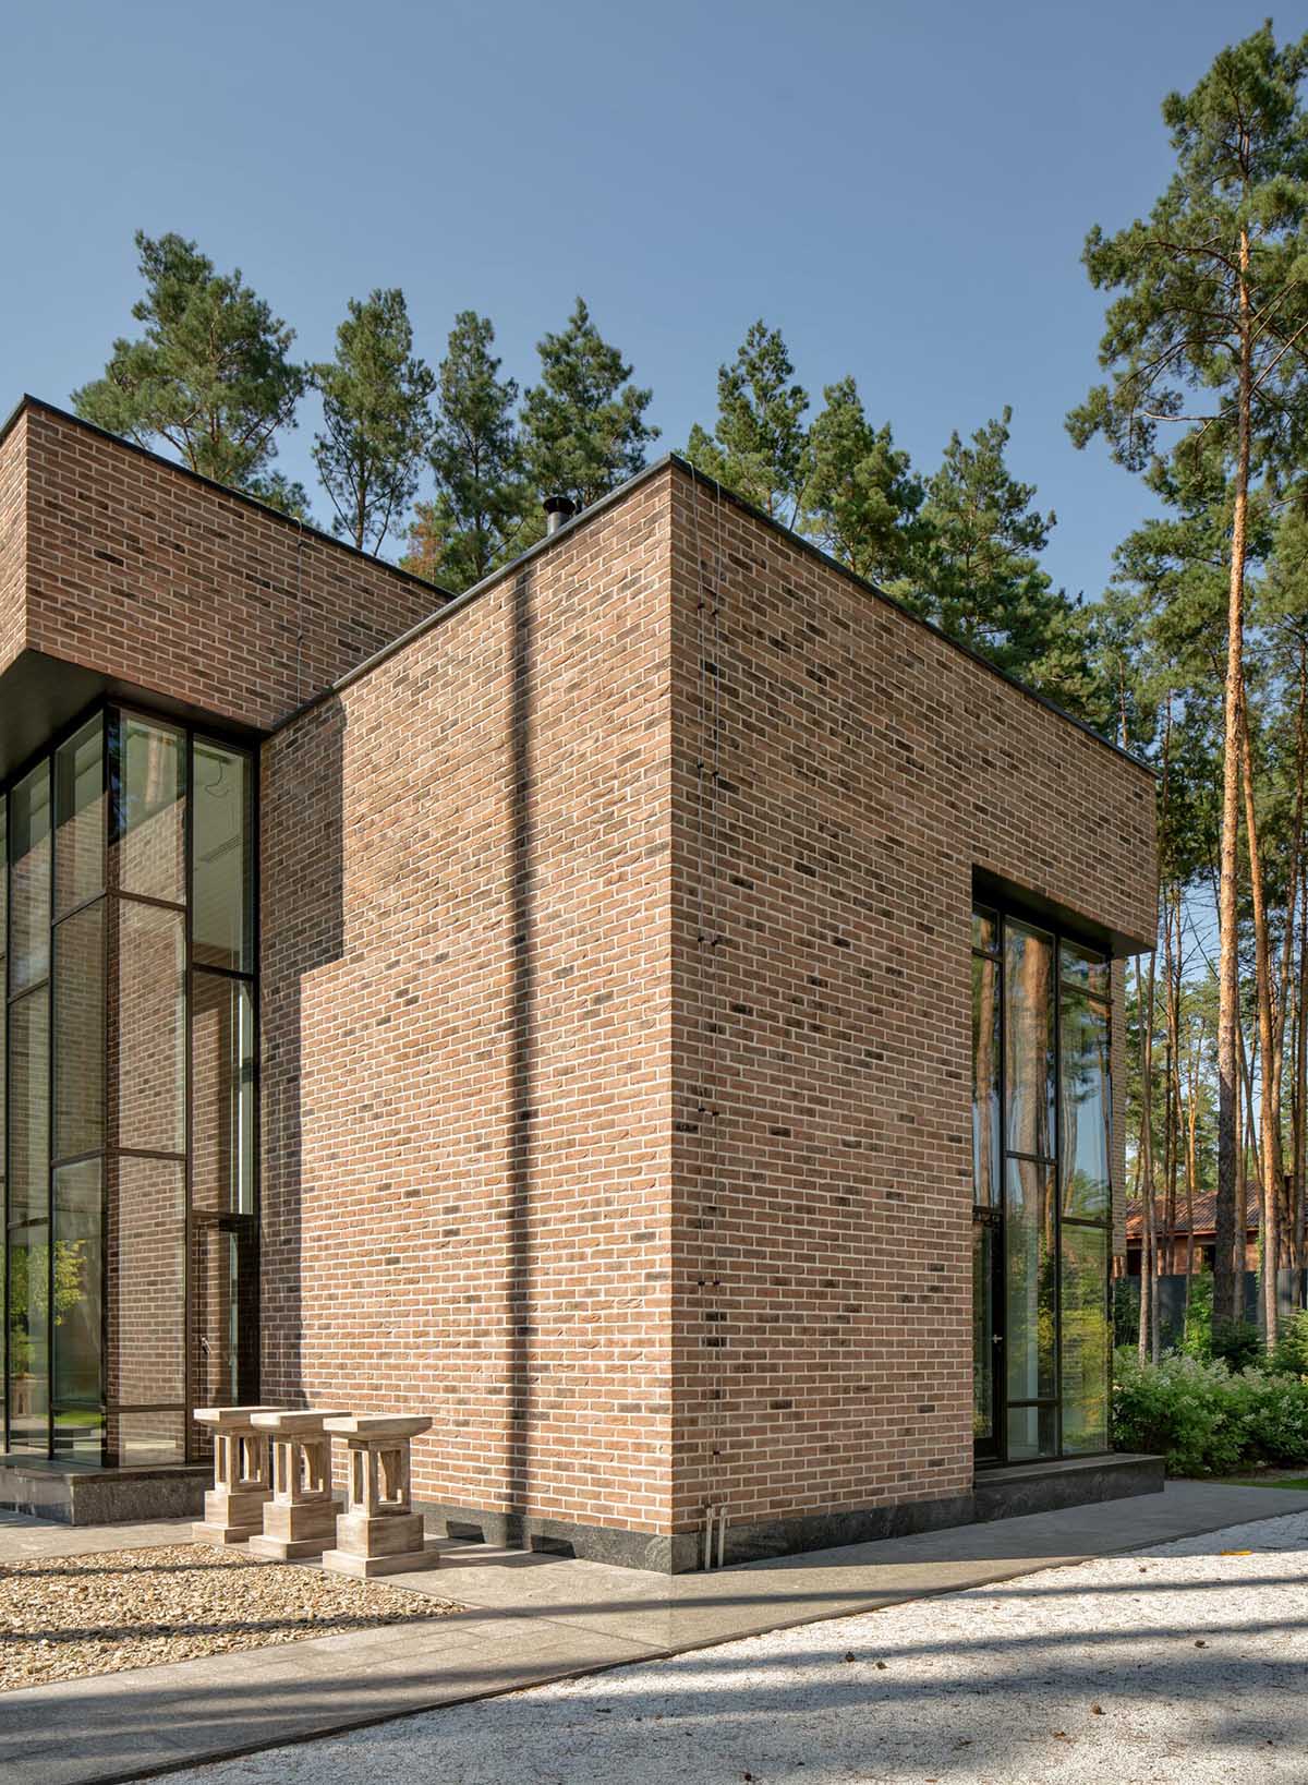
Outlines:
[[928, 543], [915, 605], [1008, 675], [1103, 723], [1090, 616], [1040, 568], [1055, 516], [1040, 514], [1035, 486], [1008, 469], [1010, 421], [1005, 409], [969, 441], [949, 439], [921, 511]]

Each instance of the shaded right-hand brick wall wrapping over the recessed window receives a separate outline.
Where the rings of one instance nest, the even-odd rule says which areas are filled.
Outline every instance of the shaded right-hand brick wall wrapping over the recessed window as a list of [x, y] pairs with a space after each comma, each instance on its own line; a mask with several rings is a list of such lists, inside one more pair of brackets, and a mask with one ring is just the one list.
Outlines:
[[673, 496], [675, 1524], [944, 1498], [973, 1476], [973, 869], [1151, 935], [1153, 778]]

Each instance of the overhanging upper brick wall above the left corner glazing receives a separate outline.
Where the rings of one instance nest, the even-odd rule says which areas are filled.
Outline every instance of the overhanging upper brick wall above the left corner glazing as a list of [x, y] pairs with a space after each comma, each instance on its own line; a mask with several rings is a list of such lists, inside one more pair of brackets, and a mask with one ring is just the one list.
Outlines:
[[[27, 646], [219, 718], [273, 725], [443, 603], [59, 411], [30, 405], [0, 452], [0, 527], [25, 455]], [[20, 607], [0, 573], [0, 668]]]

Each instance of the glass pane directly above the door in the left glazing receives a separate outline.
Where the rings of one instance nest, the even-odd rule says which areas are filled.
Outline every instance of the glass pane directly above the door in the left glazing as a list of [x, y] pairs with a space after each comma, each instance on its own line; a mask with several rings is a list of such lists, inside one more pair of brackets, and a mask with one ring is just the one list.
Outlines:
[[253, 1214], [253, 994], [241, 980], [191, 984], [193, 1207]]

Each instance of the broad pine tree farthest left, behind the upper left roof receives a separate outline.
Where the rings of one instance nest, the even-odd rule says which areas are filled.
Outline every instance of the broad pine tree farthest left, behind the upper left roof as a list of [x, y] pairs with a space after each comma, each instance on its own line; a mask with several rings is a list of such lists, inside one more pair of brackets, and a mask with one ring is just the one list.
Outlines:
[[[79, 416], [143, 446], [166, 441], [182, 464], [252, 489], [294, 427], [305, 369], [294, 330], [243, 282], [216, 273], [193, 241], [137, 230], [146, 293], [132, 305], [139, 341], [118, 339], [102, 378], [73, 391]], [[289, 486], [269, 486], [284, 494]], [[303, 493], [300, 493], [303, 494]]]

